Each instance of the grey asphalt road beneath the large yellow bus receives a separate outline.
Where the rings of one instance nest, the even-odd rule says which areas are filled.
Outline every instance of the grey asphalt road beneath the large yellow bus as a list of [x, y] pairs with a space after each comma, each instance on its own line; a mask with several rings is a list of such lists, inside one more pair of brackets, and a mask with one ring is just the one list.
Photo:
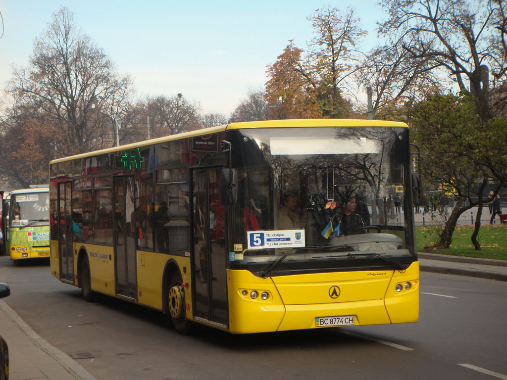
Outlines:
[[[5, 298], [97, 379], [507, 379], [507, 283], [421, 273], [415, 324], [182, 336], [162, 315], [109, 297], [88, 303], [48, 263], [0, 256]], [[15, 353], [11, 353], [15, 355]], [[27, 358], [29, 365], [29, 358]]]

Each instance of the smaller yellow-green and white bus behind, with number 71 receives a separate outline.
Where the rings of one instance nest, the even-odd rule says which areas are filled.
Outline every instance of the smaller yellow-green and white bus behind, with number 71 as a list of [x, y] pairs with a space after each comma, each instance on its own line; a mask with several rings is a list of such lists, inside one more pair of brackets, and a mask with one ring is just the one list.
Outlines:
[[15, 264], [49, 257], [49, 188], [33, 185], [14, 190], [6, 220], [5, 249]]

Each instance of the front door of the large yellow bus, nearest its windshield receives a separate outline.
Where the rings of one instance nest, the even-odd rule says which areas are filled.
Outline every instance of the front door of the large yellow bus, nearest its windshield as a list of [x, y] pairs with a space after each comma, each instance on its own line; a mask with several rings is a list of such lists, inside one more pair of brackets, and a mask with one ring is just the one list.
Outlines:
[[192, 174], [194, 317], [227, 327], [227, 254], [220, 169]]

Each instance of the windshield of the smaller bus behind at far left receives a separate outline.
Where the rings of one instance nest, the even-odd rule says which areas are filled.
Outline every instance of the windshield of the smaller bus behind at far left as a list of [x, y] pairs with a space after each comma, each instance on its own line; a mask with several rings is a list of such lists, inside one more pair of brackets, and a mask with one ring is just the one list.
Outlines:
[[49, 193], [13, 194], [10, 201], [11, 227], [49, 225]]

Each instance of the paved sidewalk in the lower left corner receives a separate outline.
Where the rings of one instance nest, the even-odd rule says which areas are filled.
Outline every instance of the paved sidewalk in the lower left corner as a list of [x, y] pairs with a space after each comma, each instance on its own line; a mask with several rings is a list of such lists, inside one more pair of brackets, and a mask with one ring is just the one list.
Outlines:
[[95, 380], [74, 359], [33, 331], [3, 300], [0, 334], [9, 347], [10, 380]]

